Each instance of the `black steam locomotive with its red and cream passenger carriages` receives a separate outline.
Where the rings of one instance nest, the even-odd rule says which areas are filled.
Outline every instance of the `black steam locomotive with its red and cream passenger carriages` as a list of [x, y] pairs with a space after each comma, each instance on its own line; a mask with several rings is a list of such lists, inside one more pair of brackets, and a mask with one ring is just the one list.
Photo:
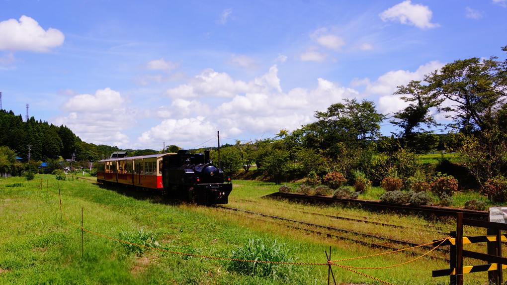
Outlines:
[[209, 151], [103, 159], [97, 163], [97, 182], [157, 190], [201, 205], [227, 204], [232, 191], [231, 178], [212, 163]]

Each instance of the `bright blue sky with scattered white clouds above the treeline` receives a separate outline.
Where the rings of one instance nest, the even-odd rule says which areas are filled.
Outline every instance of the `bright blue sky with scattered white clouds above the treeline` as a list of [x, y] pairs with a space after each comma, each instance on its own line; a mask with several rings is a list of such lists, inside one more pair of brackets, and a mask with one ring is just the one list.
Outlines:
[[2, 107], [94, 144], [234, 144], [344, 98], [392, 114], [396, 86], [504, 59], [506, 31], [507, 0], [0, 0]]

